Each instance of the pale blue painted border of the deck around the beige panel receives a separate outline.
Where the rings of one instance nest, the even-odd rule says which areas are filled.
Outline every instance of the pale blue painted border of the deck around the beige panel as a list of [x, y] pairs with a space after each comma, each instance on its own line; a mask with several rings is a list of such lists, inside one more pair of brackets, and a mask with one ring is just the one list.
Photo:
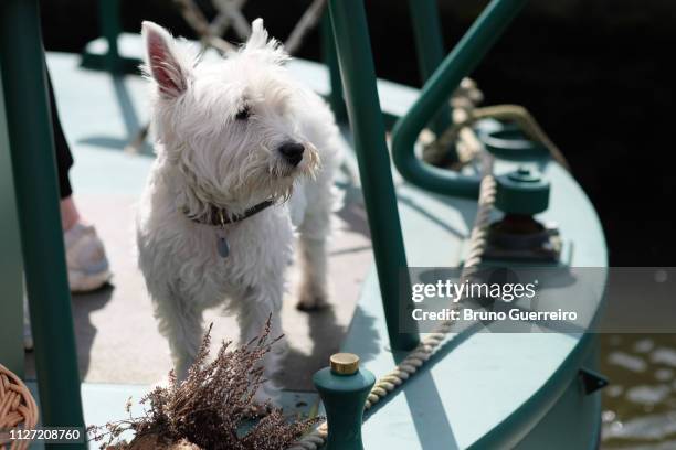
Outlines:
[[[137, 56], [139, 44], [137, 36], [124, 35], [120, 53]], [[150, 158], [125, 154], [119, 149], [146, 121], [145, 84], [134, 77], [113, 78], [105, 73], [84, 71], [77, 64], [74, 55], [49, 55], [62, 120], [75, 148], [76, 190], [86, 192], [88, 197], [103, 195], [106, 202], [138, 195]], [[291, 69], [315, 90], [328, 93], [328, 76], [323, 66], [296, 61]], [[379, 88], [383, 110], [393, 116], [405, 113], [418, 94], [389, 82], [380, 82]], [[498, 172], [511, 168], [509, 163], [497, 164]], [[541, 170], [552, 183], [550, 208], [542, 218], [557, 222], [564, 240], [573, 243], [570, 262], [577, 267], [604, 267], [604, 237], [584, 193], [557, 164], [546, 163]], [[397, 188], [409, 265], [457, 266], [476, 203], [431, 195], [399, 178]], [[131, 224], [124, 226], [130, 228]], [[358, 279], [363, 276], [348, 271], [346, 275]], [[340, 338], [342, 332], [335, 334]], [[388, 351], [387, 336], [378, 282], [371, 271], [342, 349], [359, 354], [365, 366], [379, 376], [395, 364]], [[120, 338], [120, 347], [125, 344]], [[165, 349], [148, 351], [157, 353]], [[593, 356], [590, 351], [589, 336], [556, 333], [479, 333], [456, 338], [442, 349], [443, 358], [434, 358], [405, 389], [368, 416], [363, 426], [365, 447], [541, 449], [542, 442], [547, 442], [548, 449], [584, 448], [582, 442], [590, 444], [593, 441], [590, 436], [598, 432], [600, 407], [598, 394], [583, 396], [575, 383], [578, 369]], [[311, 372], [303, 376], [310, 375]], [[139, 398], [147, 387], [148, 384], [85, 383], [82, 392], [87, 424], [101, 425], [124, 416], [126, 399]], [[308, 398], [313, 397], [303, 397], [307, 404]], [[287, 409], [297, 400], [293, 394], [286, 399]]]

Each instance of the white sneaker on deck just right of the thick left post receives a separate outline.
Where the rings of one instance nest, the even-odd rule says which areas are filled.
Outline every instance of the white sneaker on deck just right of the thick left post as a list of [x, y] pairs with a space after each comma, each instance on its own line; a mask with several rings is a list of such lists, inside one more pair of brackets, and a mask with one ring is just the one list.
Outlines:
[[88, 292], [112, 277], [103, 243], [92, 225], [75, 224], [63, 234], [71, 292]]

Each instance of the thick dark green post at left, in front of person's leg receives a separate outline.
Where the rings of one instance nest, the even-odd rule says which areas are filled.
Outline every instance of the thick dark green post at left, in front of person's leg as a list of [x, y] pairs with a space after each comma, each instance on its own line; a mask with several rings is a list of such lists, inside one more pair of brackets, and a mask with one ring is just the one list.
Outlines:
[[[0, 2], [0, 67], [45, 426], [83, 427], [36, 0]], [[51, 446], [47, 446], [51, 447]], [[83, 449], [85, 444], [59, 444]]]

